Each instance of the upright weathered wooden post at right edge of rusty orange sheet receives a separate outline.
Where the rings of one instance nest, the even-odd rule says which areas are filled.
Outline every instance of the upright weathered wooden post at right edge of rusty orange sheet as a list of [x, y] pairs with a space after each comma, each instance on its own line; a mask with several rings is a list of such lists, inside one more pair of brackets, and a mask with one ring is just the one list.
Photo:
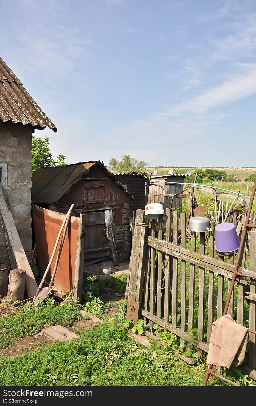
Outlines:
[[79, 226], [78, 226], [78, 236], [77, 236], [77, 249], [75, 256], [75, 274], [73, 281], [73, 293], [74, 300], [76, 298], [80, 299], [82, 302], [82, 287], [83, 287], [83, 275], [84, 275], [84, 238], [85, 238], [85, 227], [86, 219], [84, 214], [80, 214]]

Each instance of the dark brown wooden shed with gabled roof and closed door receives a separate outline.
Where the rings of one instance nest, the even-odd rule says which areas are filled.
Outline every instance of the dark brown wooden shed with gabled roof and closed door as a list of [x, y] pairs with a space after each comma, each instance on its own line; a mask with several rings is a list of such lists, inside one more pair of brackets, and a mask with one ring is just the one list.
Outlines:
[[73, 203], [73, 215], [85, 214], [87, 264], [111, 257], [107, 238], [109, 216], [118, 256], [129, 259], [129, 204], [132, 200], [100, 161], [44, 168], [32, 174], [32, 203], [61, 213], [67, 213]]

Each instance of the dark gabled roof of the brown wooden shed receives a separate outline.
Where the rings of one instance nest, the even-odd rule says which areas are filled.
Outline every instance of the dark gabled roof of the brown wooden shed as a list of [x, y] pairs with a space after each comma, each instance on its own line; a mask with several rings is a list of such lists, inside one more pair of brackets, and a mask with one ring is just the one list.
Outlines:
[[118, 182], [112, 173], [100, 161], [79, 162], [77, 164], [43, 168], [32, 173], [32, 203], [53, 204], [67, 193], [74, 183], [80, 181], [84, 173], [98, 165], [120, 190], [131, 198], [125, 188]]

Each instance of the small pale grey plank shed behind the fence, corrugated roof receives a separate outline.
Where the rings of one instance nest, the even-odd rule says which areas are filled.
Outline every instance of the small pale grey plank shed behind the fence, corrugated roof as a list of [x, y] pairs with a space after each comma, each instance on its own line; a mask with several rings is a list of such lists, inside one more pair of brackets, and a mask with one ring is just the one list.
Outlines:
[[183, 174], [172, 174], [151, 177], [147, 203], [161, 203], [164, 210], [168, 208], [170, 209], [170, 207], [180, 207], [179, 210], [181, 213], [182, 197], [174, 197], [173, 199], [170, 199], [170, 196], [166, 195], [182, 192], [183, 182], [186, 176], [187, 175]]

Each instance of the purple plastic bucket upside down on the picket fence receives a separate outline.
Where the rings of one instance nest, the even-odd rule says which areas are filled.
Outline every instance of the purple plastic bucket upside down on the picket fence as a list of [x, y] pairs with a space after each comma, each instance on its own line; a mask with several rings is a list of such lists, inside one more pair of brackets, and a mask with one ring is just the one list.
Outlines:
[[215, 250], [232, 253], [239, 248], [239, 239], [233, 223], [220, 223], [215, 227]]

